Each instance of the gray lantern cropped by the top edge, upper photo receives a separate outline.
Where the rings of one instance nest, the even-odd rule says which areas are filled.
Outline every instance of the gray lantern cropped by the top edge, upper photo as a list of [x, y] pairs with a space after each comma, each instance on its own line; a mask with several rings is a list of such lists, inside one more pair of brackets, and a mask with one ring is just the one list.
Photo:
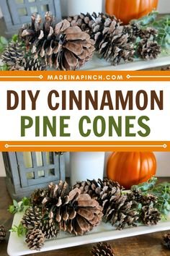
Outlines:
[[60, 0], [0, 0], [7, 33], [14, 34], [23, 23], [30, 23], [32, 13], [38, 12], [42, 17], [45, 12], [52, 12], [56, 22], [61, 20]]

